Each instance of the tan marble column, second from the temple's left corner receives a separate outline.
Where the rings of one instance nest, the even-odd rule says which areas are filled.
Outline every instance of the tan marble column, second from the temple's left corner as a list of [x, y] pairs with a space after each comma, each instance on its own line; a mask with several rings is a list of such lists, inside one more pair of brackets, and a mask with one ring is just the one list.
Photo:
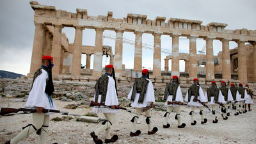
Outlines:
[[61, 66], [61, 29], [63, 26], [55, 25], [54, 26], [54, 34], [52, 40], [52, 57], [54, 68], [52, 68], [52, 74], [59, 75], [60, 74], [60, 66]]

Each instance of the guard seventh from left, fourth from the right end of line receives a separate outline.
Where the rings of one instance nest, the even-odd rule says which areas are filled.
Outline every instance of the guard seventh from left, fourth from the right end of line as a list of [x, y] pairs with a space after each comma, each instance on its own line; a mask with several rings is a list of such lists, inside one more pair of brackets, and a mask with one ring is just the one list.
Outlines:
[[224, 120], [228, 119], [228, 116], [230, 116], [229, 109], [231, 102], [234, 100], [232, 97], [232, 93], [227, 87], [225, 81], [221, 81], [221, 86], [220, 86], [220, 91], [224, 97], [225, 102], [223, 103], [223, 106], [221, 106], [221, 116], [223, 117]]

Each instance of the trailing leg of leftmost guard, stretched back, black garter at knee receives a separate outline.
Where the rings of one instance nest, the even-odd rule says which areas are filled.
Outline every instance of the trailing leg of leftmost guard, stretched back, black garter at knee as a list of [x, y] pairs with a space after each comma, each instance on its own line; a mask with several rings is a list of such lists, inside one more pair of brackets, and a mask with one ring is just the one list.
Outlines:
[[44, 117], [45, 114], [44, 113], [33, 113], [33, 123], [34, 124], [29, 124], [26, 127], [22, 127], [22, 131], [11, 140], [11, 143], [18, 143], [19, 141], [23, 140], [24, 138], [26, 138], [27, 136], [29, 136], [29, 134], [32, 134], [33, 132], [37, 131], [38, 129], [40, 129], [40, 127], [42, 127], [43, 123], [44, 123]]

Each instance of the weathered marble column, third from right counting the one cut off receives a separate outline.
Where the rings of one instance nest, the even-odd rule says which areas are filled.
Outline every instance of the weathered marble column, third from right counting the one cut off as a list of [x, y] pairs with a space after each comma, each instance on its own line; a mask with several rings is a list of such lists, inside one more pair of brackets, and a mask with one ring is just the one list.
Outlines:
[[222, 42], [222, 79], [231, 79], [229, 40], [223, 39]]

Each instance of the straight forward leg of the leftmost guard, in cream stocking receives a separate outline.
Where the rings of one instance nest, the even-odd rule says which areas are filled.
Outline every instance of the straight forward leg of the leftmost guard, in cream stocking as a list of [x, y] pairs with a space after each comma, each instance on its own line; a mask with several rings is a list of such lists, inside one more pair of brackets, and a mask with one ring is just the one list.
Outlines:
[[49, 123], [50, 123], [50, 116], [49, 115], [45, 115], [44, 116], [44, 124], [42, 125], [40, 131], [36, 132], [36, 133], [40, 134], [40, 143], [41, 144], [45, 144], [46, 143]]

